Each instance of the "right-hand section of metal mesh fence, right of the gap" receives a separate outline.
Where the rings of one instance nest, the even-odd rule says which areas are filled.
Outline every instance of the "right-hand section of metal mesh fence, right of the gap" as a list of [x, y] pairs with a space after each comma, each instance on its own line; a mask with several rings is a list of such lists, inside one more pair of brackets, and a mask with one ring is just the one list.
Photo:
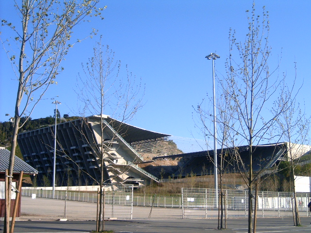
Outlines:
[[[248, 191], [223, 190], [225, 194], [225, 208], [227, 217], [247, 217]], [[252, 193], [255, 195], [255, 192]], [[294, 204], [293, 194], [288, 192], [258, 192], [258, 217], [291, 216]], [[310, 193], [296, 193], [296, 200], [300, 216], [310, 215], [308, 203]], [[217, 217], [218, 203], [215, 203], [214, 189], [182, 188], [182, 210], [185, 217]], [[253, 206], [255, 200], [253, 199]], [[261, 212], [260, 212], [261, 211]]]

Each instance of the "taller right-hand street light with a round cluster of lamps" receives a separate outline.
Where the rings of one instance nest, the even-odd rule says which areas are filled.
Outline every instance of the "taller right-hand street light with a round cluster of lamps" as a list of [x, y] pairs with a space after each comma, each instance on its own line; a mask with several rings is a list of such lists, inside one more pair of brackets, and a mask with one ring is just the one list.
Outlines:
[[216, 192], [216, 206], [218, 205], [218, 171], [217, 171], [217, 142], [216, 142], [216, 98], [215, 98], [215, 67], [214, 60], [216, 58], [220, 58], [216, 53], [211, 53], [207, 55], [205, 58], [208, 60], [212, 59], [213, 66], [213, 99], [214, 99], [214, 182], [215, 182], [215, 192]]

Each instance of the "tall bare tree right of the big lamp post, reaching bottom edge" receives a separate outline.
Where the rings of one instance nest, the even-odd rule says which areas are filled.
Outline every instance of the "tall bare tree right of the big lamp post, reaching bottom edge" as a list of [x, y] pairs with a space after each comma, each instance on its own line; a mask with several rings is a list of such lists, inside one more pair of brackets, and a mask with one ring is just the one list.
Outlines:
[[[248, 14], [248, 11], [247, 11]], [[261, 18], [262, 17], [262, 18]], [[252, 231], [252, 200], [253, 187], [263, 167], [254, 174], [254, 153], [257, 146], [271, 141], [278, 142], [280, 137], [271, 133], [277, 119], [284, 111], [286, 105], [278, 105], [275, 112], [269, 109], [277, 96], [283, 93], [285, 76], [278, 77], [277, 69], [270, 70], [268, 61], [271, 47], [268, 44], [269, 19], [268, 12], [263, 7], [262, 15], [255, 11], [253, 3], [252, 11], [248, 18], [248, 33], [244, 42], [239, 42], [235, 31], [229, 33], [229, 57], [226, 61], [227, 78], [223, 92], [228, 94], [230, 102], [234, 102], [232, 111], [234, 125], [228, 125], [230, 135], [236, 138], [228, 140], [228, 147], [237, 148], [245, 143], [248, 147], [248, 161], [243, 161], [239, 150], [235, 150], [235, 157], [239, 165], [240, 173], [248, 188], [248, 233]], [[289, 101], [291, 93], [284, 99]], [[244, 144], [244, 145], [245, 145]], [[256, 218], [256, 216], [254, 216]], [[256, 231], [256, 229], [254, 229]]]

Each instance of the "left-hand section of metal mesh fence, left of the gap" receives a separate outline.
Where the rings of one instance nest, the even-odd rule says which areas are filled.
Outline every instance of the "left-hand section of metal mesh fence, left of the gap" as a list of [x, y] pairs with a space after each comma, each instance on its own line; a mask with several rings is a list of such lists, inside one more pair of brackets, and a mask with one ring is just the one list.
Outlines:
[[[105, 184], [104, 192], [104, 217], [117, 217], [121, 219], [131, 219], [133, 217], [133, 185]], [[35, 196], [34, 196], [35, 194]], [[77, 191], [58, 191], [55, 190], [55, 199], [57, 201], [42, 200], [52, 199], [52, 190], [44, 189], [22, 189], [22, 196], [35, 197], [32, 200], [26, 200], [32, 203], [33, 215], [38, 213], [38, 207], [42, 208], [45, 203], [49, 203], [44, 212], [44, 216], [57, 216], [59, 218], [69, 218], [76, 220], [76, 217], [82, 217], [85, 220], [95, 220], [97, 210], [97, 193], [86, 193]], [[31, 212], [28, 208], [27, 212]], [[77, 215], [80, 212], [82, 215]]]

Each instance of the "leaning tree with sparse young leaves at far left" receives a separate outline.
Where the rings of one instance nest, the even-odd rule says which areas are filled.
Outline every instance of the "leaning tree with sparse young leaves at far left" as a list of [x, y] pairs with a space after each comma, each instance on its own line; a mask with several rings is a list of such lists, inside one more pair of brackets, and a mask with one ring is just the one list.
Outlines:
[[[26, 115], [27, 111], [27, 120], [49, 86], [56, 82], [56, 76], [63, 70], [61, 61], [76, 43], [69, 44], [73, 29], [88, 17], [101, 15], [104, 8], [96, 8], [98, 2], [99, 0], [14, 1], [21, 25], [1, 19], [2, 26], [8, 26], [15, 33], [12, 37], [4, 35], [7, 36], [5, 39], [1, 36], [1, 43], [18, 81], [9, 162], [9, 190], [12, 185], [17, 133], [22, 127], [19, 124], [20, 117]], [[17, 54], [14, 51], [18, 51]], [[10, 192], [8, 199], [10, 209]], [[5, 221], [5, 226], [8, 226], [9, 219]], [[5, 227], [6, 231], [8, 229]]]

